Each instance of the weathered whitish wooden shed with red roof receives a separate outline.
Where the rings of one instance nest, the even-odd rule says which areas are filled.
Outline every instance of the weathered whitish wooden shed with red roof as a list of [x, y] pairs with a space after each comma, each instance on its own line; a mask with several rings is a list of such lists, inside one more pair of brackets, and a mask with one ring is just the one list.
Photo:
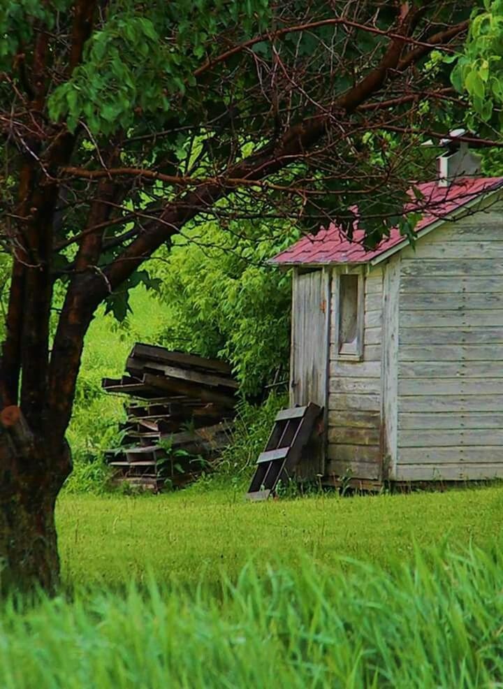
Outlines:
[[325, 409], [326, 483], [503, 477], [503, 177], [418, 186], [414, 247], [332, 224], [273, 259], [293, 268], [291, 405]]

